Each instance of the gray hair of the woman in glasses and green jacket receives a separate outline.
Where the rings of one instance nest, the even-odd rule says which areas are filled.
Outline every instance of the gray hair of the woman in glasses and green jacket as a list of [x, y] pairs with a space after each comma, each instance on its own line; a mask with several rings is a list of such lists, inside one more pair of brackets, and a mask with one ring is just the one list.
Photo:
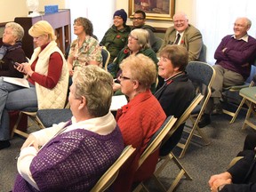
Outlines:
[[143, 28], [135, 28], [131, 31], [131, 35], [138, 39], [137, 42], [142, 49], [148, 49], [150, 47], [149, 33], [147, 30]]

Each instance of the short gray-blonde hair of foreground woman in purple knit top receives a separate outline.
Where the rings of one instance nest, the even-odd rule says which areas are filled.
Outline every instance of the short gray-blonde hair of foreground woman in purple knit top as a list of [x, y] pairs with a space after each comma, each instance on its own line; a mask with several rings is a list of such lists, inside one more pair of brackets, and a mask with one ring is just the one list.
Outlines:
[[73, 84], [76, 87], [75, 96], [86, 98], [90, 116], [108, 114], [113, 95], [113, 77], [108, 71], [94, 65], [76, 68]]

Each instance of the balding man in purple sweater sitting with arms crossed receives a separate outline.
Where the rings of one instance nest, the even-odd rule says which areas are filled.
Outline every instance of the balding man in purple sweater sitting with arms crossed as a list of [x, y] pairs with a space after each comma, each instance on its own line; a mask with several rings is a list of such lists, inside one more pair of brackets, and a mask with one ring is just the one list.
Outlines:
[[213, 68], [216, 76], [212, 83], [212, 96], [204, 110], [199, 127], [211, 124], [210, 114], [221, 114], [220, 104], [223, 87], [244, 84], [250, 76], [251, 66], [256, 58], [256, 40], [247, 34], [252, 22], [247, 18], [237, 18], [234, 35], [225, 36], [215, 54]]

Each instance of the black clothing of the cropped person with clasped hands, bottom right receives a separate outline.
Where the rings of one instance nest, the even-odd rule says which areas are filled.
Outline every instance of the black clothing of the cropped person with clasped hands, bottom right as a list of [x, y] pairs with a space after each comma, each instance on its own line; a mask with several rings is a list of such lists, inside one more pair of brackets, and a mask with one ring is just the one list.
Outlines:
[[255, 151], [245, 150], [239, 156], [244, 156], [228, 169], [232, 175], [232, 184], [225, 185], [221, 192], [255, 192], [256, 191], [256, 159]]

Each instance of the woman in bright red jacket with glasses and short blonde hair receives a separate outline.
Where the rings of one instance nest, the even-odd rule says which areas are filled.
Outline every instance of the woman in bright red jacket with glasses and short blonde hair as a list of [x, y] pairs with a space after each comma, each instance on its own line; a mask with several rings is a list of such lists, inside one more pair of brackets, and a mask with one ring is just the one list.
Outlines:
[[120, 68], [122, 74], [118, 78], [121, 91], [128, 97], [129, 102], [117, 110], [116, 122], [122, 132], [124, 145], [132, 144], [136, 152], [134, 158], [119, 172], [115, 191], [130, 191], [135, 176], [138, 180], [146, 179], [155, 171], [158, 151], [156, 156], [148, 159], [150, 167], [141, 167], [141, 174], [136, 172], [141, 154], [153, 134], [164, 123], [166, 116], [149, 90], [150, 85], [156, 80], [155, 63], [147, 56], [137, 54], [123, 60]]

